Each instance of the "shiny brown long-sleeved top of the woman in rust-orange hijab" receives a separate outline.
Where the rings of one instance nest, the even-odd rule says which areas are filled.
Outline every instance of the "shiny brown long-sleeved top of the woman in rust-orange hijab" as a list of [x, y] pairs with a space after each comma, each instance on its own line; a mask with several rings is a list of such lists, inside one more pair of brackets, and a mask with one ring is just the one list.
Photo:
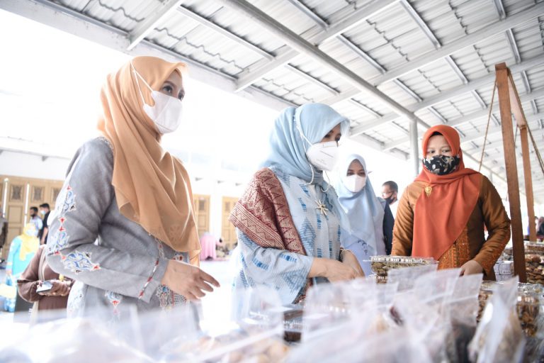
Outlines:
[[[414, 209], [416, 201], [424, 192], [424, 184], [414, 181], [410, 184], [399, 201], [395, 228], [393, 229], [392, 255], [412, 255], [412, 236], [414, 230]], [[463, 201], [458, 201], [463, 203]], [[429, 223], [448, 223], [429, 220]], [[488, 237], [485, 238], [485, 228]], [[454, 244], [439, 259], [438, 268], [461, 267], [474, 259], [480, 263], [486, 279], [494, 279], [493, 267], [510, 239], [510, 220], [497, 189], [487, 177], [482, 176], [480, 194], [467, 225]], [[425, 257], [425, 256], [421, 256]]]

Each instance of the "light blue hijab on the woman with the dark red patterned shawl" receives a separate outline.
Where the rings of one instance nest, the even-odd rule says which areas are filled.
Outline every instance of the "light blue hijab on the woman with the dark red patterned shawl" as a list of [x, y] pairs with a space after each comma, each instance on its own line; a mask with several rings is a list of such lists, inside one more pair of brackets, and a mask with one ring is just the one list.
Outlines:
[[[348, 136], [349, 121], [331, 106], [325, 104], [305, 104], [288, 107], [276, 118], [270, 136], [271, 150], [263, 162], [263, 167], [276, 167], [286, 174], [302, 180], [312, 180], [312, 169], [306, 156], [310, 145], [300, 136], [300, 132], [313, 143], [319, 143], [334, 126], [340, 123], [343, 137]], [[312, 166], [313, 167], [313, 166]], [[322, 184], [327, 189], [321, 170], [314, 168], [314, 184]]]

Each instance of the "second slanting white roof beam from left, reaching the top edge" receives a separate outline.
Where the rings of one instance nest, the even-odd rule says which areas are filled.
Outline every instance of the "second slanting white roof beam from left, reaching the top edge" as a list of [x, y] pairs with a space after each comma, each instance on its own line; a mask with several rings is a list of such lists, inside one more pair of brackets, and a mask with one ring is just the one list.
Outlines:
[[[307, 40], [313, 45], [319, 45], [325, 40], [334, 38], [341, 33], [344, 33], [353, 26], [358, 25], [359, 23], [370, 18], [370, 16], [384, 11], [393, 4], [396, 4], [399, 0], [382, 0], [382, 1], [373, 1], [372, 4], [363, 6], [355, 11], [351, 11], [349, 15], [344, 18], [339, 19], [335, 23], [323, 28], [321, 25], [317, 25], [310, 30], [307, 30], [305, 33], [300, 35], [301, 38]], [[313, 18], [313, 17], [312, 17]], [[299, 55], [299, 52], [294, 49], [284, 50], [284, 53], [281, 57], [281, 62], [259, 62], [259, 65], [252, 67], [251, 71], [242, 72], [239, 74], [239, 84], [237, 90], [242, 90], [244, 87], [249, 84], [253, 84], [258, 79], [261, 79], [265, 74], [272, 72], [274, 69], [285, 65], [285, 63], [290, 62], [295, 57]], [[278, 55], [276, 55], [278, 57]]]

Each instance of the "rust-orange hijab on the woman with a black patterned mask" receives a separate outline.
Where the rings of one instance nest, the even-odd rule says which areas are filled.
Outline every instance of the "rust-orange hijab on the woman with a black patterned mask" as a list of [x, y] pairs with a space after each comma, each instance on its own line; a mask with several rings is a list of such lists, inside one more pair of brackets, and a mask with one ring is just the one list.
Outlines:
[[446, 125], [429, 128], [423, 136], [424, 155], [433, 133], [441, 133], [448, 141], [453, 155], [460, 162], [455, 172], [436, 175], [425, 167], [415, 181], [431, 186], [429, 196], [422, 191], [414, 208], [414, 240], [412, 256], [434, 257], [438, 260], [454, 243], [467, 225], [468, 218], [480, 195], [482, 174], [465, 168], [458, 132]]

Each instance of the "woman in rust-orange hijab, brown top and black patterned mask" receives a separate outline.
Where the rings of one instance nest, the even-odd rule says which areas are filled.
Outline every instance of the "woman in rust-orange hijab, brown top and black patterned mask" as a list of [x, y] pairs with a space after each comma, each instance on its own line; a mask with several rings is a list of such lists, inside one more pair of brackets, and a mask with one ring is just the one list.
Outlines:
[[439, 269], [460, 267], [461, 274], [494, 279], [510, 239], [501, 197], [487, 177], [465, 168], [454, 128], [427, 130], [422, 150], [423, 170], [399, 201], [392, 255], [433, 257]]

